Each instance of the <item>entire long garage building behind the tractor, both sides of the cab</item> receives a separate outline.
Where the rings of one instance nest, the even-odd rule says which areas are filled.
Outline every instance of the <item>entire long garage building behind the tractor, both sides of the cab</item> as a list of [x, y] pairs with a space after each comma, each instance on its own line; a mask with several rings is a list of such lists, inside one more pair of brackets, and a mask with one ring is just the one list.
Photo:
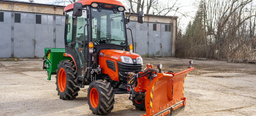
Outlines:
[[[140, 24], [131, 16], [127, 27], [133, 31], [134, 52], [174, 56], [176, 23], [177, 17], [145, 14]], [[46, 47], [65, 47], [64, 29], [63, 6], [0, 0], [0, 58], [42, 58]], [[129, 30], [128, 39], [132, 43]]]

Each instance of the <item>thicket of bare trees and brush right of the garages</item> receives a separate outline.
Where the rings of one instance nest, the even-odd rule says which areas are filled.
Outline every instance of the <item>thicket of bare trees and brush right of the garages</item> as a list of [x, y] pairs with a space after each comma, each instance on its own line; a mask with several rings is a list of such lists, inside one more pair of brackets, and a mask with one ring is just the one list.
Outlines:
[[[190, 50], [190, 54], [196, 53], [197, 57], [239, 60], [239, 62], [249, 61], [250, 58], [255, 57], [256, 1], [200, 0], [197, 9], [197, 16], [202, 17], [202, 22], [200, 23], [197, 19], [191, 24], [191, 27], [187, 27], [193, 31], [186, 31], [182, 35], [183, 41], [197, 44], [183, 47], [184, 52]], [[203, 31], [199, 30], [199, 27], [195, 29], [195, 24], [202, 25]], [[196, 36], [201, 32], [203, 32], [203, 36]], [[187, 38], [187, 35], [193, 36]], [[182, 42], [179, 44], [184, 46]], [[201, 49], [195, 51], [197, 47], [201, 47]], [[203, 52], [205, 53], [203, 54]], [[188, 54], [183, 55], [185, 56], [182, 57], [189, 57]]]

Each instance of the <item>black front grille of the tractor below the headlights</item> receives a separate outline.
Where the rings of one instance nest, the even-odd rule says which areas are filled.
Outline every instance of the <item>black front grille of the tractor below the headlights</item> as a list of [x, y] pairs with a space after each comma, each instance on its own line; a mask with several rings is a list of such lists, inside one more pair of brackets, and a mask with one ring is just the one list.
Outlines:
[[117, 62], [119, 81], [126, 82], [127, 75], [125, 75], [124, 73], [142, 70], [142, 66], [143, 66], [143, 64], [135, 64], [134, 65], [134, 64], [123, 64], [123, 63]]

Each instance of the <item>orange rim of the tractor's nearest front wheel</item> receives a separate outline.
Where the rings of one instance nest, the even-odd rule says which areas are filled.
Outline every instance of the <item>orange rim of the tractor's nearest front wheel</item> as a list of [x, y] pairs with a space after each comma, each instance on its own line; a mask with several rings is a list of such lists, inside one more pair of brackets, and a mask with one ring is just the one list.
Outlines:
[[89, 98], [90, 98], [90, 103], [92, 105], [93, 108], [96, 108], [99, 104], [99, 95], [98, 95], [98, 91], [96, 90], [96, 88], [92, 88], [90, 90], [90, 94], [89, 94]]

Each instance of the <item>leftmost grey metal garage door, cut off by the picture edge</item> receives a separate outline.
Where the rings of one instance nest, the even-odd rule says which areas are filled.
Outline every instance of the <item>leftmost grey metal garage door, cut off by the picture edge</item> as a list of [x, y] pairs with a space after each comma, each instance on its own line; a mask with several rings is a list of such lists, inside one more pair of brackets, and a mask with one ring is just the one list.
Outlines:
[[0, 58], [12, 57], [11, 12], [0, 11]]

